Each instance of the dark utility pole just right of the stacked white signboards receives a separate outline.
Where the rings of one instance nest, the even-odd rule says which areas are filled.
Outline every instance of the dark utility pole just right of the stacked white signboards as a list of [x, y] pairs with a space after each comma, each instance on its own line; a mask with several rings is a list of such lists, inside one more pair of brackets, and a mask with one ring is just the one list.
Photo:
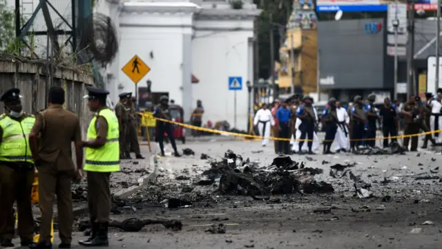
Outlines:
[[413, 66], [413, 54], [414, 54], [414, 1], [407, 1], [407, 93], [408, 98], [416, 93], [416, 87], [414, 87], [414, 66]]

